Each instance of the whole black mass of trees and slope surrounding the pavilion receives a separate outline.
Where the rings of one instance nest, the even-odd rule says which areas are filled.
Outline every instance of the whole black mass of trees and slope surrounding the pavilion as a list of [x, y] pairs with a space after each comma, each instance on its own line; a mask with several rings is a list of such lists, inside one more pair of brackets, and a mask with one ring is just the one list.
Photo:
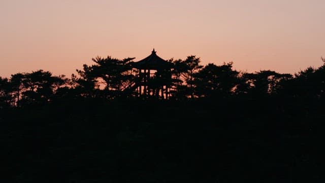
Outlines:
[[171, 59], [152, 76], [171, 86], [164, 99], [137, 94], [132, 60], [0, 77], [2, 182], [325, 180], [325, 65], [292, 76]]

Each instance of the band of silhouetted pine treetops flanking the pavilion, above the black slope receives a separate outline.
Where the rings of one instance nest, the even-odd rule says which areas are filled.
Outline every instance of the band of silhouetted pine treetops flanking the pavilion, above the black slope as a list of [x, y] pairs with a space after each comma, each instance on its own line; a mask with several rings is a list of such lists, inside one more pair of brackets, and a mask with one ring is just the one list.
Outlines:
[[[133, 57], [92, 58], [93, 65], [77, 69], [71, 78], [52, 76], [49, 71], [13, 74], [0, 78], [0, 104], [19, 107], [45, 104], [62, 98], [138, 98], [139, 70], [133, 68]], [[253, 73], [236, 71], [233, 63], [201, 65], [200, 57], [170, 59], [172, 69], [150, 76], [152, 93], [158, 95], [161, 82], [171, 89], [164, 94], [173, 100], [229, 97], [324, 97], [325, 60], [319, 68], [309, 67], [295, 75], [262, 70]], [[149, 81], [147, 81], [149, 82]], [[153, 94], [152, 94], [153, 95]]]

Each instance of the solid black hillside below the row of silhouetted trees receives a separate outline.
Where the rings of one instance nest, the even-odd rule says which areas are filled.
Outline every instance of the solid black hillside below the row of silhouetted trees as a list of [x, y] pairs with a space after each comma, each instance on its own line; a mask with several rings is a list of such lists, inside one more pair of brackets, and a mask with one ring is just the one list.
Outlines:
[[324, 182], [322, 101], [0, 109], [1, 182]]

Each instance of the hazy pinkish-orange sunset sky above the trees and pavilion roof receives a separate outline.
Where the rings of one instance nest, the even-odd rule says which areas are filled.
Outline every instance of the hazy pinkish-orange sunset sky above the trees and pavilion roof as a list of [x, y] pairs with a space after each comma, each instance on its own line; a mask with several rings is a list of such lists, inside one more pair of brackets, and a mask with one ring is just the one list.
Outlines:
[[324, 0], [0, 0], [0, 76], [70, 77], [96, 56], [196, 55], [297, 73], [325, 57]]

